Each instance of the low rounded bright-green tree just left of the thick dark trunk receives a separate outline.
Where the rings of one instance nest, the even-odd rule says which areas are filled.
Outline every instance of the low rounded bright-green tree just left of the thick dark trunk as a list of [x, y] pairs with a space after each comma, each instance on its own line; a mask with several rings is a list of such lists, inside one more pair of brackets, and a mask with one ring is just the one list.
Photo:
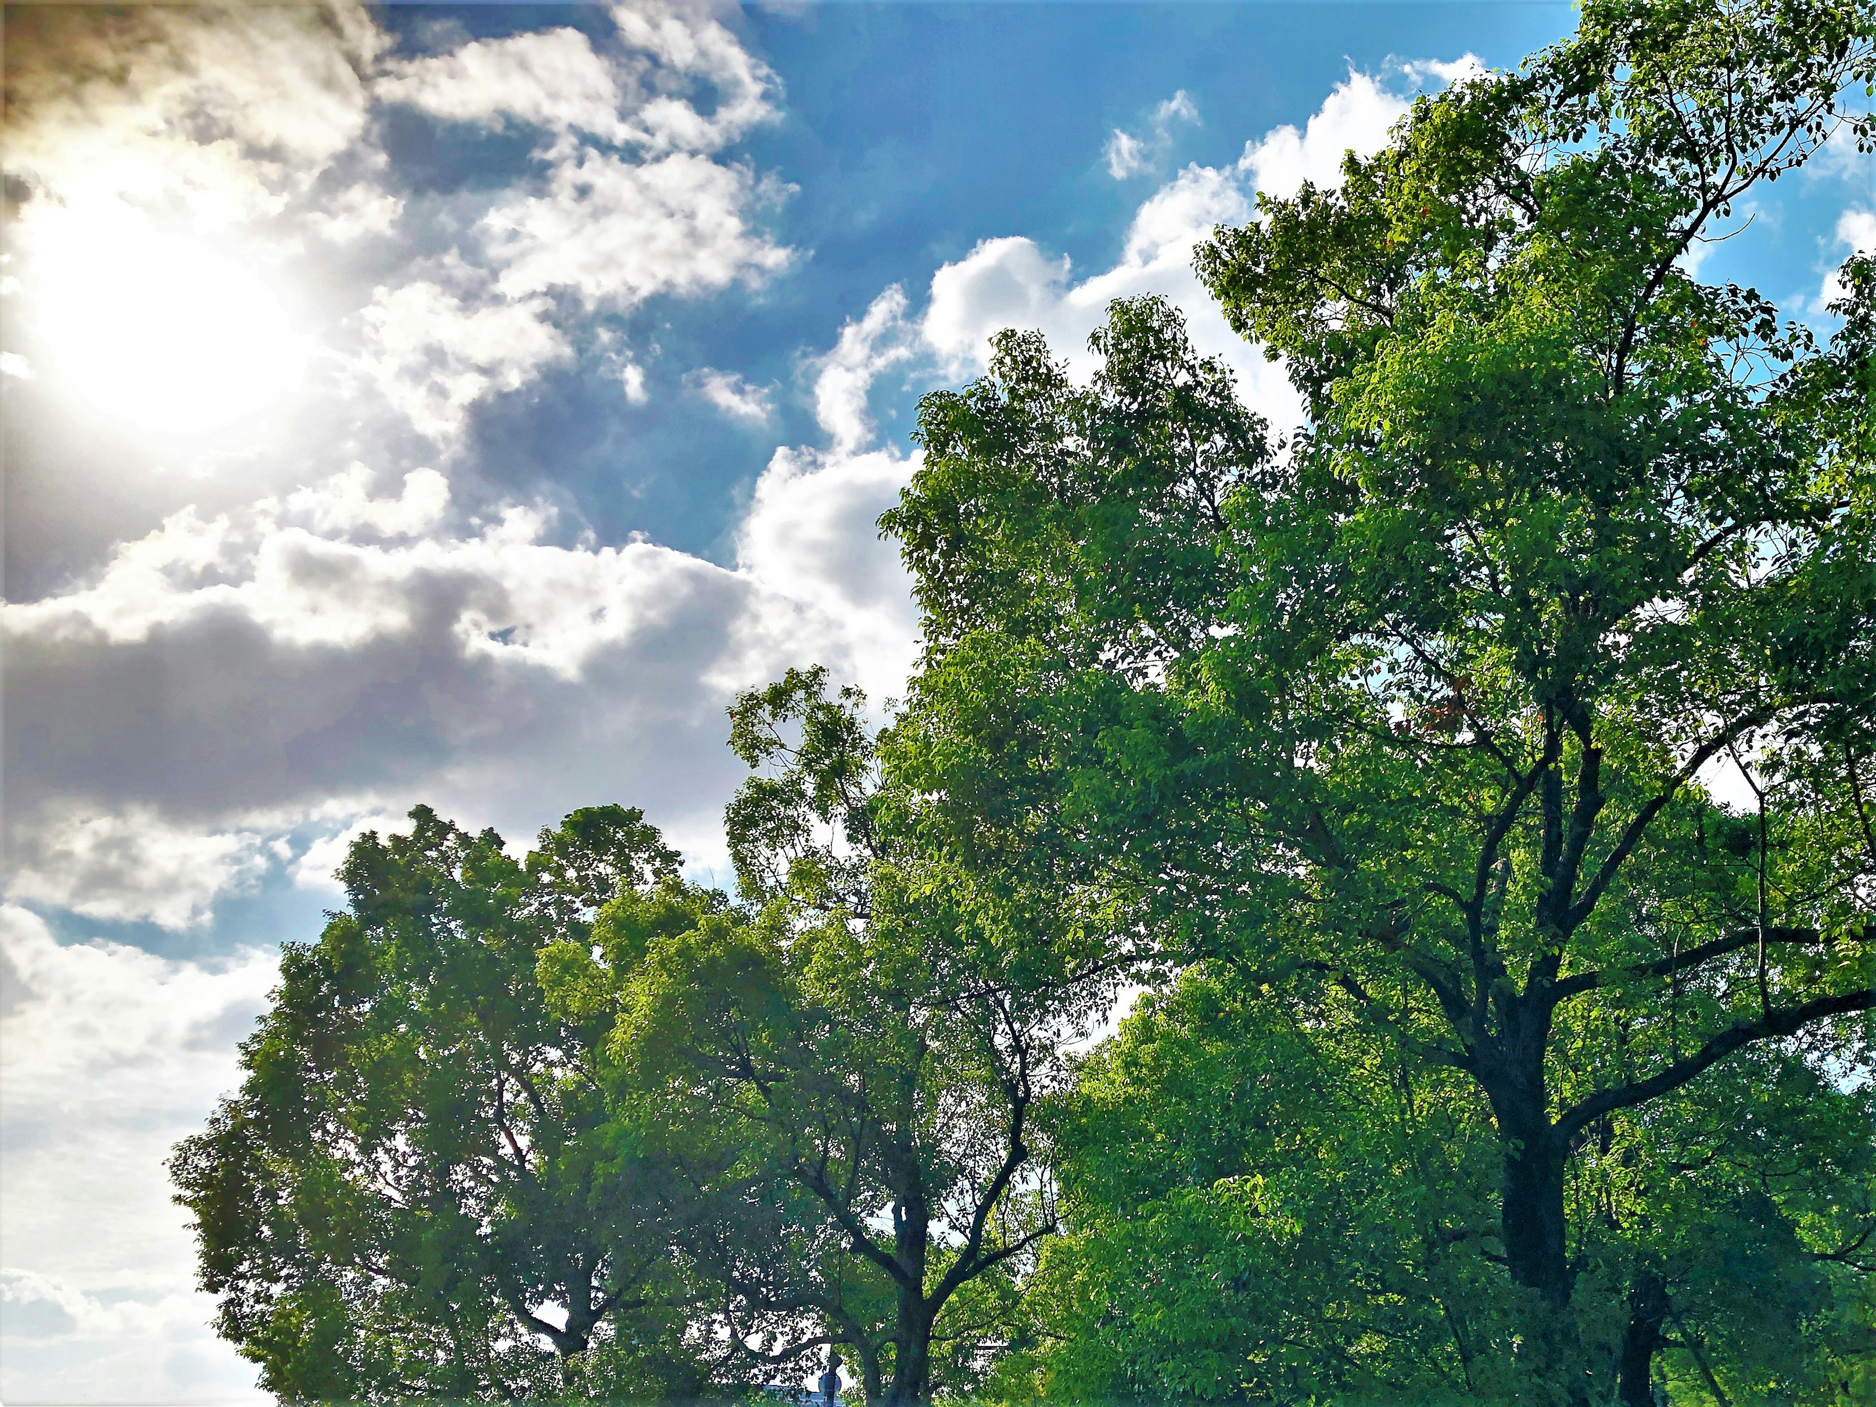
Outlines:
[[1047, 1118], [1064, 1234], [1006, 1377], [1067, 1401], [1501, 1396], [1490, 1126], [1332, 991], [1188, 968]]

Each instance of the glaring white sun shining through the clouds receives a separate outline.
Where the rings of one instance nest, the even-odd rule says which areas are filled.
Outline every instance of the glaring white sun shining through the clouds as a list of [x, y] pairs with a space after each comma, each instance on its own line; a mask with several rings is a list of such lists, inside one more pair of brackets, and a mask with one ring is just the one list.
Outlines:
[[68, 212], [38, 231], [24, 300], [62, 381], [139, 430], [203, 435], [266, 407], [304, 343], [233, 253], [143, 216]]

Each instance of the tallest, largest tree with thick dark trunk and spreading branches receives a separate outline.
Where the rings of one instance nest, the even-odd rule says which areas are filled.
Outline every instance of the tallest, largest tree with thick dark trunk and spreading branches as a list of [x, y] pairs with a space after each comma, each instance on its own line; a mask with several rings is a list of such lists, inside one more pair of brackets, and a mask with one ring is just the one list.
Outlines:
[[1867, 146], [1838, 96], [1872, 32], [1585, 4], [1201, 250], [1306, 400], [1287, 445], [1122, 304], [1088, 386], [1004, 334], [927, 398], [884, 520], [929, 642], [900, 784], [961, 854], [1326, 977], [1463, 1073], [1525, 1358], [1572, 1399], [1604, 1371], [1581, 1150], [1758, 1043], [1852, 1051], [1876, 1006], [1876, 270], [1823, 347], [1687, 272], [1762, 182]]

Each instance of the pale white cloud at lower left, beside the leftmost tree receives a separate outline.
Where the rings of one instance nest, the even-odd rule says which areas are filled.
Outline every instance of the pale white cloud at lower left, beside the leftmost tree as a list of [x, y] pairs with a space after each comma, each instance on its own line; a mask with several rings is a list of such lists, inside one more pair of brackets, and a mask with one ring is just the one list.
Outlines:
[[278, 961], [58, 944], [8, 904], [0, 966], [0, 1396], [265, 1401], [189, 1289], [163, 1161], [233, 1088]]

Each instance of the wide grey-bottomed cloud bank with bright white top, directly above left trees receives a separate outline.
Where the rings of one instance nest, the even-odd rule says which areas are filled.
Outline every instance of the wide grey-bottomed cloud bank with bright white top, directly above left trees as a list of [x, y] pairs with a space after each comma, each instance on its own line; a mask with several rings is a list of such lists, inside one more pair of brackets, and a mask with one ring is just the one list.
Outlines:
[[186, 927], [270, 865], [325, 865], [263, 835], [416, 799], [525, 837], [625, 797], [713, 850], [730, 692], [801, 660], [902, 679], [908, 597], [870, 522], [904, 475], [779, 452], [734, 570], [561, 546], [529, 507], [443, 529], [428, 471], [394, 499], [355, 467], [178, 512], [84, 589], [0, 608], [13, 893]]

